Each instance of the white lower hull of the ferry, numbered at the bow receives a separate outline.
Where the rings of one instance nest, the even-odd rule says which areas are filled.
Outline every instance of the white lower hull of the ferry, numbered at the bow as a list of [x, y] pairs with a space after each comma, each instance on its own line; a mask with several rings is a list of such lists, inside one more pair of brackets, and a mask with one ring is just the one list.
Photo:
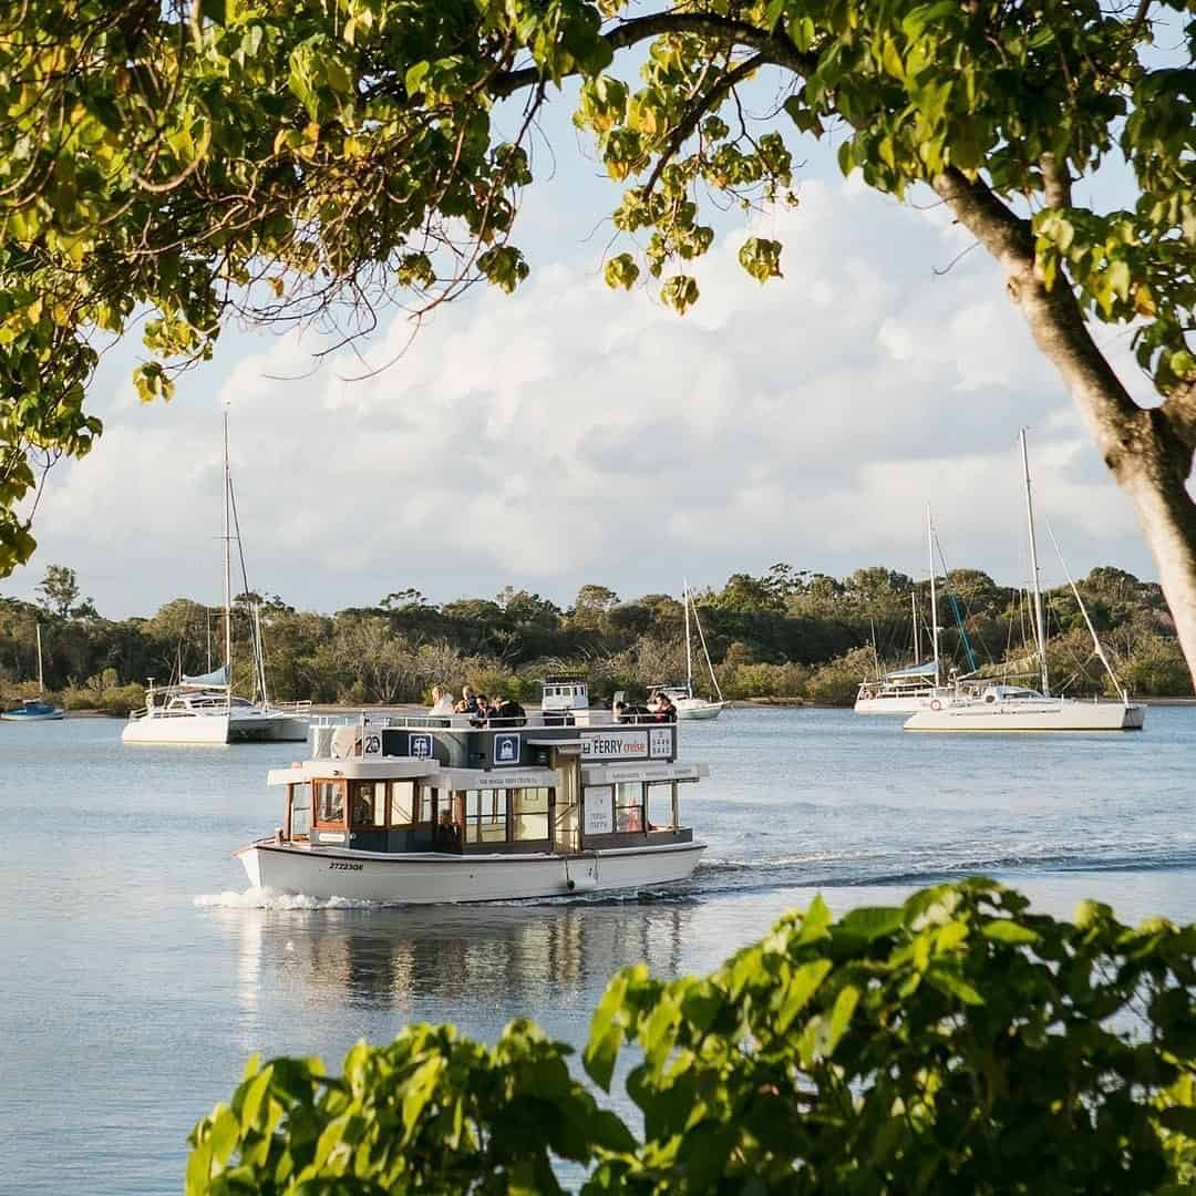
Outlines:
[[396, 904], [514, 901], [684, 880], [704, 843], [579, 855], [393, 855], [301, 848], [263, 840], [237, 855], [250, 884], [307, 897]]

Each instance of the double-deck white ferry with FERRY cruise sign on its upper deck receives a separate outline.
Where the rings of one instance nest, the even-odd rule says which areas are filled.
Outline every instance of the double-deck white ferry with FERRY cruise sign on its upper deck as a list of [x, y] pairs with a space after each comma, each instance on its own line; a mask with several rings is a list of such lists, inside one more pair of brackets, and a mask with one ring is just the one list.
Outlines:
[[234, 853], [250, 883], [422, 904], [684, 880], [706, 846], [682, 825], [681, 792], [707, 765], [678, 761], [676, 722], [616, 722], [568, 687], [520, 719], [312, 727], [312, 758], [268, 777], [282, 825]]

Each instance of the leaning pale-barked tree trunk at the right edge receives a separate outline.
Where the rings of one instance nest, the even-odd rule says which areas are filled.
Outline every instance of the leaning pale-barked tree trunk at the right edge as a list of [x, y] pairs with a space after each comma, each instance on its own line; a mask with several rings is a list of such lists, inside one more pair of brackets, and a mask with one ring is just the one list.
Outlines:
[[947, 171], [934, 182], [960, 224], [1001, 263], [1009, 295], [1035, 343], [1058, 371], [1154, 556], [1179, 646], [1196, 681], [1196, 502], [1188, 478], [1196, 448], [1190, 395], [1142, 408], [1097, 348], [1070, 285], [1048, 291], [1035, 266], [1030, 226], [981, 181]]

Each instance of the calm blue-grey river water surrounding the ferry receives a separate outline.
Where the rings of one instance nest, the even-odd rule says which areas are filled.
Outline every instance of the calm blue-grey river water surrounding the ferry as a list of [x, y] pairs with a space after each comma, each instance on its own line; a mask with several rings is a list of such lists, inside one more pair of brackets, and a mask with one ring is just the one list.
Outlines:
[[[1141, 734], [907, 736], [840, 710], [683, 726], [710, 779], [683, 887], [500, 907], [263, 905], [230, 850], [280, 820], [299, 745], [122, 746], [103, 719], [0, 724], [0, 1191], [177, 1192], [251, 1051], [318, 1054], [536, 1018], [576, 1046], [610, 975], [714, 968], [785, 909], [976, 872], [1051, 913], [1196, 921], [1196, 708]], [[692, 795], [690, 795], [692, 794]]]

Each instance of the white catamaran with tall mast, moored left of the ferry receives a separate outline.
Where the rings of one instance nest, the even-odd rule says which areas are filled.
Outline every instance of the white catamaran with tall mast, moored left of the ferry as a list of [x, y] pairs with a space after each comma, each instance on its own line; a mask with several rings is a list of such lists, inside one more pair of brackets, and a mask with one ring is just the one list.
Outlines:
[[[238, 742], [292, 742], [307, 738], [310, 702], [274, 706], [267, 696], [266, 657], [261, 618], [254, 610], [252, 700], [232, 691], [232, 476], [228, 469], [228, 413], [224, 417], [224, 641], [225, 663], [199, 677], [181, 677], [177, 684], [146, 689], [146, 704], [129, 715], [121, 733], [127, 744], [228, 744]], [[236, 538], [240, 539], [239, 523]], [[243, 561], [244, 565], [244, 561]], [[246, 590], [249, 588], [246, 584]]]

